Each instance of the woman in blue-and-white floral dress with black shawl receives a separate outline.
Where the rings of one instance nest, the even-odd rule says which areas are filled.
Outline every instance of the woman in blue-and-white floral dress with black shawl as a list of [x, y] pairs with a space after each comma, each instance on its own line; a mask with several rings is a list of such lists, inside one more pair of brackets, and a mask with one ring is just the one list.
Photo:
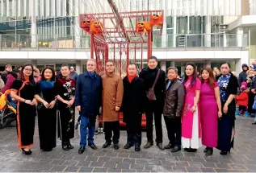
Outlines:
[[237, 94], [237, 77], [230, 72], [229, 62], [220, 64], [221, 75], [216, 77], [220, 87], [220, 101], [222, 117], [218, 121], [218, 146], [220, 154], [226, 155], [233, 148], [235, 134], [235, 112], [236, 102], [234, 97]]

